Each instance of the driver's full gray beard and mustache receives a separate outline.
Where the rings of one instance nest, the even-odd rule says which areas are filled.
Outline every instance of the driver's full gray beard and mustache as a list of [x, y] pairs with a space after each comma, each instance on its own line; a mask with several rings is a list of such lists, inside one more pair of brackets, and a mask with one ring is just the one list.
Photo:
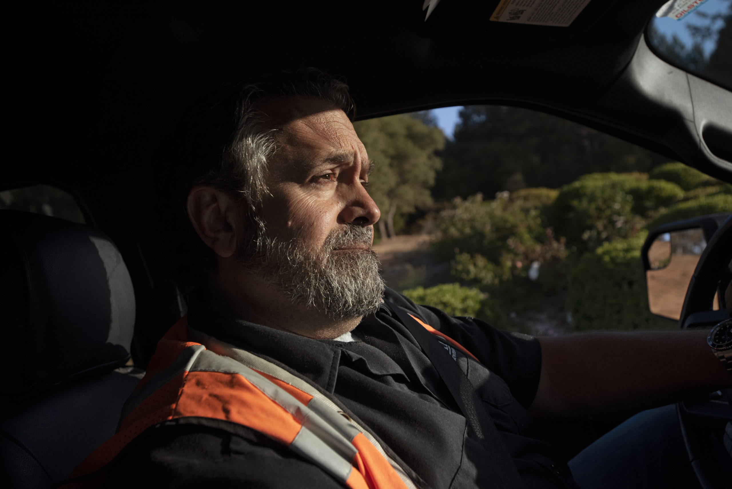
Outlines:
[[[372, 236], [373, 228], [342, 225], [330, 232], [320, 250], [313, 251], [302, 239], [283, 242], [262, 232], [239, 250], [237, 258], [294, 304], [335, 320], [359, 318], [375, 311], [384, 295]], [[368, 250], [335, 251], [354, 245], [367, 245]]]

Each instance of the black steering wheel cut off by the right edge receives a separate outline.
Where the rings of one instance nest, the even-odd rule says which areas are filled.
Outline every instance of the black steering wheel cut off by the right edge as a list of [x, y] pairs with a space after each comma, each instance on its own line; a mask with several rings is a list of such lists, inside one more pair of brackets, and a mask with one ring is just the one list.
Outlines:
[[[713, 310], [714, 294], [724, 291], [732, 261], [732, 216], [709, 239], [692, 276], [681, 328], [713, 326], [731, 315], [732, 304]], [[722, 281], [722, 279], [725, 279]], [[722, 305], [723, 299], [720, 301]], [[703, 489], [732, 488], [732, 389], [676, 405], [689, 460]]]

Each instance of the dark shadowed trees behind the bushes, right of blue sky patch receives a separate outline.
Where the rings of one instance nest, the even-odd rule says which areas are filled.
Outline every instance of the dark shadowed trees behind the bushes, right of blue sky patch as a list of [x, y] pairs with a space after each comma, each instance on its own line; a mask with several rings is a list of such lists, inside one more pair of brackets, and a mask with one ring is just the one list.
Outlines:
[[436, 198], [558, 188], [585, 173], [643, 171], [667, 159], [566, 119], [523, 108], [466, 106], [442, 153]]

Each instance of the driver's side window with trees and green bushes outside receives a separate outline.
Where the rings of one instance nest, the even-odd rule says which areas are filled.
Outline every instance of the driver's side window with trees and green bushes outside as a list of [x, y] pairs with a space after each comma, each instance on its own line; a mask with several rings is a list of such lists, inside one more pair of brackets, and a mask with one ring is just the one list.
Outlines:
[[[677, 328], [649, 310], [643, 242], [658, 225], [732, 211], [732, 185], [526, 108], [354, 126], [376, 162], [368, 190], [381, 209], [374, 248], [386, 284], [515, 332]], [[665, 285], [654, 307], [680, 310], [688, 277]]]

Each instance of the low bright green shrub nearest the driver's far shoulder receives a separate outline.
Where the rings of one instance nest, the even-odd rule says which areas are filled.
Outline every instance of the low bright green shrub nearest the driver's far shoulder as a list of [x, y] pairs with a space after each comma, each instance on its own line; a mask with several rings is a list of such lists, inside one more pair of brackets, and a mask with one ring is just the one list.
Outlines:
[[441, 283], [430, 288], [411, 288], [402, 291], [402, 294], [417, 304], [437, 307], [449, 316], [476, 317], [499, 327], [508, 324], [508, 318], [498, 303], [477, 288], [463, 287], [459, 283]]

